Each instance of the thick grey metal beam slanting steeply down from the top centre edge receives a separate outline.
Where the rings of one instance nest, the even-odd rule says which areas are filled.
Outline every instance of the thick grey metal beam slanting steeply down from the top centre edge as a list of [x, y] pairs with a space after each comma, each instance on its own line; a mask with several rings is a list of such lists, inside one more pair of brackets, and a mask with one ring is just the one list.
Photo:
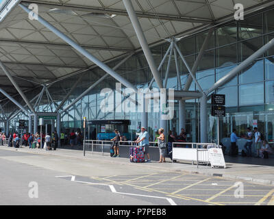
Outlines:
[[134, 27], [134, 30], [136, 32], [136, 35], [137, 35], [137, 38], [140, 42], [142, 50], [145, 53], [145, 57], [146, 57], [147, 62], [149, 64], [149, 68], [151, 69], [151, 73], [152, 73], [153, 77], [155, 78], [155, 81], [158, 84], [158, 87], [163, 88], [162, 78], [160, 77], [160, 73], [156, 68], [152, 53], [149, 49], [149, 44], [147, 43], [147, 40], [145, 38], [145, 34], [142, 31], [142, 27], [140, 25], [140, 22], [138, 21], [138, 18], [136, 16], [136, 12], [134, 11], [132, 1], [131, 0], [123, 0], [123, 3], [125, 5], [125, 8], [127, 10], [128, 15], [129, 15], [130, 21], [132, 21], [132, 25]]

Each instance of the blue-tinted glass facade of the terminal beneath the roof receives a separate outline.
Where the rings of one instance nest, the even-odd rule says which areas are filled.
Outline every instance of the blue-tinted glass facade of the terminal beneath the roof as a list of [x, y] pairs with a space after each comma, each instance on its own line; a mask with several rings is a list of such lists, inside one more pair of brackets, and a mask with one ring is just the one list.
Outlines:
[[[185, 56], [190, 68], [193, 66], [207, 34], [208, 32], [205, 31], [195, 36], [183, 38], [178, 42], [178, 47]], [[232, 23], [216, 27], [214, 34], [212, 34], [209, 40], [203, 59], [198, 66], [197, 80], [203, 90], [210, 88], [216, 81], [229, 73], [230, 70], [246, 60], [249, 55], [252, 55], [273, 38], [274, 10], [245, 17], [245, 21], [232, 21]], [[160, 64], [168, 48], [169, 44], [162, 44], [151, 48], [156, 65]], [[174, 59], [173, 54], [167, 88], [175, 88], [175, 90], [178, 90]], [[110, 62], [108, 65], [114, 67], [119, 61], [121, 60]], [[180, 79], [182, 86], [184, 86], [189, 74], [186, 66], [182, 60], [180, 60], [179, 55], [178, 62]], [[166, 73], [166, 66], [167, 59], [160, 70], [163, 79]], [[125, 79], [137, 88], [147, 87], [152, 79], [151, 71], [145, 55], [142, 52], [129, 58], [116, 72], [123, 75]], [[105, 73], [99, 68], [84, 73], [82, 82], [79, 83], [77, 89], [71, 94], [69, 100], [64, 104], [64, 107], [69, 105], [73, 99], [82, 94], [84, 90], [103, 75], [105, 75]], [[53, 86], [49, 88], [53, 99], [62, 101], [62, 98], [66, 92], [69, 92], [78, 77], [79, 76], [71, 77], [61, 81], [61, 83], [53, 84]], [[140, 124], [141, 114], [134, 112], [125, 113], [117, 110], [119, 107], [125, 107], [123, 106], [125, 105], [124, 96], [119, 96], [121, 94], [117, 92], [114, 93], [114, 99], [122, 99], [121, 106], [114, 105], [114, 112], [105, 112], [100, 109], [101, 101], [104, 99], [103, 96], [100, 96], [101, 90], [103, 88], [114, 90], [116, 82], [117, 81], [112, 77], [107, 77], [107, 79], [99, 83], [96, 88], [92, 89], [92, 91], [73, 105], [73, 107], [62, 114], [62, 128], [81, 128], [84, 116], [86, 116], [88, 120], [129, 119], [132, 121], [131, 125], [129, 125], [129, 133], [131, 133], [131, 136], [134, 136]], [[153, 83], [153, 88], [157, 88], [155, 82]], [[122, 86], [122, 90], [125, 91], [124, 86]], [[197, 90], [195, 83], [192, 82], [190, 90]], [[222, 121], [224, 124], [223, 130], [221, 131], [222, 136], [228, 136], [232, 131], [232, 127], [238, 127], [239, 131], [244, 130], [247, 126], [251, 125], [251, 121], [255, 118], [258, 119], [262, 132], [271, 133], [271, 131], [273, 131], [273, 120], [271, 119], [274, 115], [274, 48], [270, 49], [261, 57], [258, 57], [256, 62], [251, 63], [248, 68], [242, 70], [236, 77], [225, 83], [225, 85], [215, 92], [218, 94], [226, 94], [227, 116], [223, 118]], [[199, 118], [199, 99], [188, 100], [186, 103], [188, 140], [197, 142], [199, 141], [199, 120], [197, 119]], [[210, 103], [210, 101], [208, 101], [208, 103]], [[50, 111], [49, 108], [45, 109], [46, 104], [45, 102], [44, 106], [41, 107], [41, 111]], [[242, 112], [248, 115], [242, 114]], [[268, 116], [263, 116], [264, 114], [266, 115], [266, 112]], [[175, 128], [177, 133], [182, 128], [178, 125], [178, 115], [178, 103], [176, 101], [175, 118], [170, 121], [169, 129]], [[209, 137], [208, 140], [216, 140], [216, 120], [210, 116], [210, 104], [208, 105], [208, 116], [208, 128], [212, 133], [212, 137]], [[14, 118], [11, 127], [16, 125], [16, 121], [18, 121], [19, 118], [27, 119], [26, 116], [21, 114]], [[154, 130], [159, 127], [159, 123], [159, 114], [149, 113], [148, 124], [151, 136], [153, 136]], [[272, 134], [269, 134], [269, 136], [272, 136]], [[269, 137], [269, 140], [271, 139], [272, 137]]]

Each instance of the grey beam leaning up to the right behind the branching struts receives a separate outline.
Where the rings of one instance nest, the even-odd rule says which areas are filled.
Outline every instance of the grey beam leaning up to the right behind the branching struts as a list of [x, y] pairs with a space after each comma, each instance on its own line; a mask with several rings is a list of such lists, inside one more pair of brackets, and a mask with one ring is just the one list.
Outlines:
[[[199, 52], [199, 55], [198, 55], [197, 59], [195, 60], [194, 65], [192, 66], [191, 72], [195, 77], [196, 77], [198, 66], [201, 62], [201, 59], [203, 58], [203, 54], [206, 51], [206, 47], [208, 46], [208, 42], [209, 42], [210, 37], [212, 36], [213, 32], [214, 32], [214, 28], [211, 28], [210, 31], [208, 31], [208, 36], [206, 36], [206, 40], [203, 42], [203, 45]], [[188, 75], [188, 79], [184, 85], [184, 90], [189, 90], [192, 81], [193, 81], [193, 79], [192, 79], [191, 75]]]

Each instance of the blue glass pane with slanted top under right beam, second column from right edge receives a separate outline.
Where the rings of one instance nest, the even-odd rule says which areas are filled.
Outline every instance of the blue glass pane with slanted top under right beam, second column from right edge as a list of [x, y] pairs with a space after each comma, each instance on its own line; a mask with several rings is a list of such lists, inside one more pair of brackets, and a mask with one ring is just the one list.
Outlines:
[[249, 66], [239, 75], [239, 83], [253, 83], [264, 81], [264, 60], [259, 60]]

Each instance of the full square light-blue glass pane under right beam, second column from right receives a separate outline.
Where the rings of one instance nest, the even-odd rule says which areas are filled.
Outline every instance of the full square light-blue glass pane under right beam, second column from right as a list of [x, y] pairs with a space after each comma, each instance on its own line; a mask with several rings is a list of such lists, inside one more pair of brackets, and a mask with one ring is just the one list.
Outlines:
[[240, 105], [264, 103], [264, 83], [252, 83], [239, 86]]

